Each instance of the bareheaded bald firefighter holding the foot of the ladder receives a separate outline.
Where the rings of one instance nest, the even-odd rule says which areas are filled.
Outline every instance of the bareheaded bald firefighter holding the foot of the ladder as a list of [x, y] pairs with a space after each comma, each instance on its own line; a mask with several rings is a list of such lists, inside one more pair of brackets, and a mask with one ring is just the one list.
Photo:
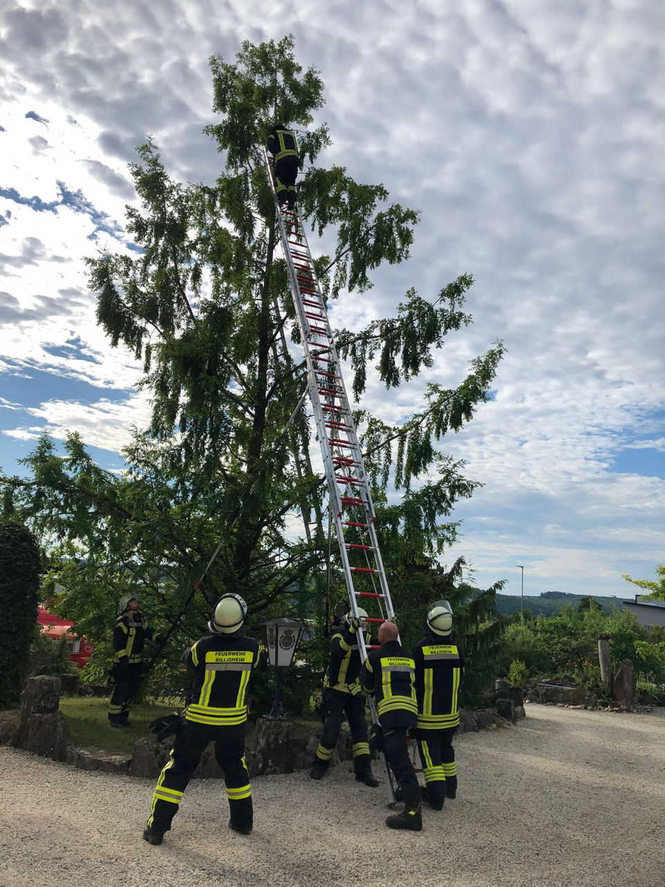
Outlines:
[[379, 644], [379, 649], [372, 650], [367, 657], [360, 679], [367, 692], [376, 699], [382, 747], [402, 790], [404, 810], [388, 816], [386, 825], [388, 828], [420, 831], [423, 827], [420, 788], [409, 757], [406, 735], [407, 730], [416, 726], [418, 719], [415, 667], [399, 642], [394, 623], [381, 625]]

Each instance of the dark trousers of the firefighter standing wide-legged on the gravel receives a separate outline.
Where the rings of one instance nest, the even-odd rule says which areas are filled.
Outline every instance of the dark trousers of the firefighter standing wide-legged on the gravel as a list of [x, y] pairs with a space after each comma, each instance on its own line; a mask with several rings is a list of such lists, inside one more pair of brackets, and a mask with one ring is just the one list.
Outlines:
[[215, 742], [215, 758], [223, 770], [231, 822], [235, 825], [252, 825], [252, 791], [245, 763], [245, 726], [207, 726], [187, 720], [184, 722], [182, 729], [176, 733], [171, 757], [154, 789], [147, 822], [149, 828], [160, 832], [171, 828], [184, 789], [210, 742]]

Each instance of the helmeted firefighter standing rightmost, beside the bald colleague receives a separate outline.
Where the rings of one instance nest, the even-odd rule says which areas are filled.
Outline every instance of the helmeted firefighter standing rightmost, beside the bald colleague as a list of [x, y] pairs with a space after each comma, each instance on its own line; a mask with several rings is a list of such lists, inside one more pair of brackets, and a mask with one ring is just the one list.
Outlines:
[[442, 810], [457, 794], [458, 776], [452, 737], [459, 725], [459, 683], [464, 656], [452, 635], [452, 609], [437, 600], [427, 612], [426, 633], [413, 648], [418, 699], [418, 744], [425, 773], [425, 799]]

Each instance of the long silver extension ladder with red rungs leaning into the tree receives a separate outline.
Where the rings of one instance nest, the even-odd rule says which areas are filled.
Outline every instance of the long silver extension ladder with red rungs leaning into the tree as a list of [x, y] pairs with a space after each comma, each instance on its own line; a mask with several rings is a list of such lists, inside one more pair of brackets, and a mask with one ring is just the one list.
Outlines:
[[[332, 327], [319, 287], [317, 271], [309, 252], [304, 227], [295, 208], [280, 204], [275, 192], [273, 161], [263, 148], [270, 189], [279, 225], [280, 243], [288, 270], [295, 315], [301, 331], [307, 365], [307, 392], [314, 412], [317, 437], [321, 445], [325, 478], [328, 483], [329, 508], [340, 546], [340, 558], [348, 589], [351, 612], [358, 615], [358, 599], [375, 603], [380, 618], [368, 616], [363, 621], [381, 624], [395, 616], [386, 571], [383, 568], [379, 540], [374, 529], [374, 506], [370, 484], [364, 471], [363, 454], [335, 349]], [[300, 404], [299, 404], [300, 406]], [[346, 536], [345, 536], [346, 534]], [[347, 541], [347, 537], [351, 541]], [[357, 564], [356, 561], [361, 561]], [[354, 561], [352, 563], [352, 561]], [[361, 632], [364, 638], [364, 633]], [[358, 643], [361, 662], [374, 647]], [[370, 698], [372, 720], [379, 723], [376, 703]], [[384, 755], [380, 756], [388, 795], [395, 801], [392, 774]]]

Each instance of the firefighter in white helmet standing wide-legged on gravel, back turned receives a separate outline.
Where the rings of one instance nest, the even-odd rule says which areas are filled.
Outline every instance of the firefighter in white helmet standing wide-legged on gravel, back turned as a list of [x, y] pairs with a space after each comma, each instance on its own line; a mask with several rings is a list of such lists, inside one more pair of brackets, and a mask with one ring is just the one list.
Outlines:
[[[207, 624], [209, 633], [185, 651], [187, 671], [194, 674], [192, 700], [176, 732], [168, 764], [160, 773], [143, 836], [161, 844], [178, 812], [184, 789], [201, 753], [215, 742], [215, 758], [223, 770], [231, 819], [229, 828], [249, 835], [253, 826], [252, 792], [245, 763], [250, 676], [259, 663], [259, 642], [247, 638], [247, 605], [239, 594], [223, 594]], [[173, 729], [170, 732], [175, 732]]]

